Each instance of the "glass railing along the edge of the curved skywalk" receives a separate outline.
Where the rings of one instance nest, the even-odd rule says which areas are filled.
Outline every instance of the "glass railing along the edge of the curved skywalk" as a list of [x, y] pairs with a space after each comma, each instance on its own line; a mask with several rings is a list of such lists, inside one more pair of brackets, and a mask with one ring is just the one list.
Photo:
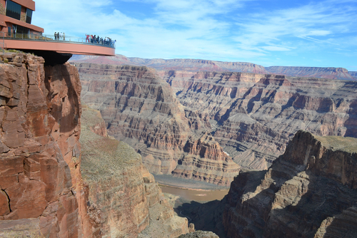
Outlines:
[[13, 38], [19, 40], [28, 40], [28, 41], [54, 41], [54, 42], [65, 42], [65, 43], [83, 43], [87, 45], [95, 46], [105, 46], [110, 48], [116, 47], [116, 41], [97, 41], [96, 39], [91, 38], [82, 38], [76, 36], [65, 36], [57, 38], [54, 35], [44, 35], [38, 33], [7, 33], [1, 32], [0, 38]]

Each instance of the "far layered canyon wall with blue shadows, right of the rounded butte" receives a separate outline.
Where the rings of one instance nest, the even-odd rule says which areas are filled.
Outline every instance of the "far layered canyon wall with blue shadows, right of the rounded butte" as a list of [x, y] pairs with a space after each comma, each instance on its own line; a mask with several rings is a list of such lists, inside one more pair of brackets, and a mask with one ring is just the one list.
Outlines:
[[[254, 73], [198, 72], [166, 77], [186, 115], [233, 160], [267, 169], [296, 131], [357, 135], [357, 83]], [[192, 121], [192, 120], [191, 120]]]

